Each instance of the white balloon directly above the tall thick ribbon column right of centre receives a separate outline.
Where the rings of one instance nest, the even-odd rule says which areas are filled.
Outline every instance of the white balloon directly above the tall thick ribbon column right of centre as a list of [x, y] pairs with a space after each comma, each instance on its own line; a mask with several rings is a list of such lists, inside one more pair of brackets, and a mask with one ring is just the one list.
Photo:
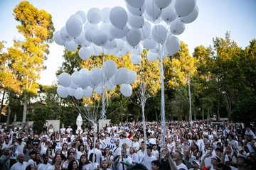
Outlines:
[[167, 30], [166, 30], [166, 27], [163, 25], [156, 25], [152, 29], [153, 39], [160, 44], [163, 44], [165, 42], [166, 35], [167, 35]]

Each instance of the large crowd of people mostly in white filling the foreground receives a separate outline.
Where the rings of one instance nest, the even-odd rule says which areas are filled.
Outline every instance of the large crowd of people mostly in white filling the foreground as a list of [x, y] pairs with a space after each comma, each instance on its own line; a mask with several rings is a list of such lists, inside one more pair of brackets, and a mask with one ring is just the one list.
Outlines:
[[[70, 125], [55, 131], [45, 124], [40, 134], [0, 125], [0, 169], [256, 169], [252, 123], [171, 121], [165, 130], [159, 122], [145, 124], [110, 122], [99, 132]], [[110, 138], [114, 147], [107, 144]]]

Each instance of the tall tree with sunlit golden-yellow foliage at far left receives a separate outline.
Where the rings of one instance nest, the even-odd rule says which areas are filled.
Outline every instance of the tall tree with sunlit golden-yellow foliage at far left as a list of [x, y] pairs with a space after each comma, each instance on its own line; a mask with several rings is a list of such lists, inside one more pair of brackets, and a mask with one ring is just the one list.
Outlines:
[[28, 1], [22, 1], [14, 8], [16, 26], [23, 40], [14, 40], [14, 47], [8, 49], [11, 58], [11, 72], [19, 81], [23, 96], [23, 118], [26, 121], [27, 104], [36, 96], [41, 71], [46, 69], [43, 62], [49, 54], [48, 43], [53, 42], [53, 26], [50, 13], [38, 10]]

